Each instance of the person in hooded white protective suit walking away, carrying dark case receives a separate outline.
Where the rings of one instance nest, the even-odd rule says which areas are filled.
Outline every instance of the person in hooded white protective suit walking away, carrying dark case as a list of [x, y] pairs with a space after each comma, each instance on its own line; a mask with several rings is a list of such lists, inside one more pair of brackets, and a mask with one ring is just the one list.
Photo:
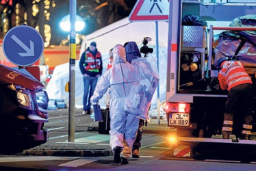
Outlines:
[[122, 45], [116, 45], [112, 52], [113, 66], [101, 77], [90, 100], [92, 105], [97, 104], [110, 88], [110, 146], [114, 152], [114, 161], [127, 164], [140, 119], [126, 114], [123, 107], [131, 87], [139, 83], [139, 73], [136, 66], [126, 62], [125, 48]]

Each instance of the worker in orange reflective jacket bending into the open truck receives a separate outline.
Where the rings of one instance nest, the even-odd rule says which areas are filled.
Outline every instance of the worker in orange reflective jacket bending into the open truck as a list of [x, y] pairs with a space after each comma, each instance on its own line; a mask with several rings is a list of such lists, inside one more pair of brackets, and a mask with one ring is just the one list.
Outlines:
[[[251, 77], [248, 76], [244, 66], [238, 60], [220, 60], [219, 63], [221, 64], [218, 73], [220, 88], [228, 90], [222, 137], [229, 139], [229, 135], [233, 131], [236, 137], [250, 140], [254, 113]], [[233, 118], [235, 127], [233, 127]]]

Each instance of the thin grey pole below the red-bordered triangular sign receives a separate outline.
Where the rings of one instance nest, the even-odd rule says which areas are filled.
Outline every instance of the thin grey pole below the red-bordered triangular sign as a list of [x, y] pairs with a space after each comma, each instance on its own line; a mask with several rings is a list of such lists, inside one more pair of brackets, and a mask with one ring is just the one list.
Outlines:
[[[158, 44], [158, 21], [155, 21], [155, 40], [157, 53], [157, 70], [159, 70], [159, 44]], [[157, 85], [157, 124], [160, 124], [160, 100], [159, 100], [159, 83]]]

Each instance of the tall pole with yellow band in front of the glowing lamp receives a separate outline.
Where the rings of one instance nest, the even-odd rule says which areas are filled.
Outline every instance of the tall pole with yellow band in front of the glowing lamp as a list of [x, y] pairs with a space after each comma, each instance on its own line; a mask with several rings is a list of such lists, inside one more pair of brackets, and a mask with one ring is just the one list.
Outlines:
[[68, 142], [75, 142], [75, 18], [77, 0], [70, 0]]

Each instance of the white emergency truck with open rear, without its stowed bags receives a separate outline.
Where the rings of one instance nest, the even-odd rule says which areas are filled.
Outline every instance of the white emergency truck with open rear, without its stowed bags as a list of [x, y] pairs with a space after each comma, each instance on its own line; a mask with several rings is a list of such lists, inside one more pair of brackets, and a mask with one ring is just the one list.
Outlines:
[[[235, 136], [227, 140], [222, 139], [227, 92], [220, 90], [218, 69], [213, 65], [214, 48], [218, 45], [218, 41], [215, 40], [218, 34], [225, 30], [250, 30], [256, 33], [256, 27], [229, 27], [233, 19], [255, 14], [255, 11], [256, 1], [170, 1], [165, 110], [168, 127], [177, 130], [176, 137], [170, 137], [173, 143], [177, 141], [256, 145], [255, 119], [251, 140], [239, 140]], [[188, 14], [204, 18], [207, 27], [181, 25], [182, 18]], [[196, 63], [195, 69], [198, 73], [184, 75], [183, 71], [189, 70], [190, 64], [184, 64], [183, 57], [194, 58], [194, 61], [187, 62]], [[255, 65], [246, 63], [244, 66], [255, 83]], [[255, 86], [254, 84], [254, 89]], [[190, 155], [189, 147], [177, 148], [179, 149], [174, 151], [173, 155]]]

